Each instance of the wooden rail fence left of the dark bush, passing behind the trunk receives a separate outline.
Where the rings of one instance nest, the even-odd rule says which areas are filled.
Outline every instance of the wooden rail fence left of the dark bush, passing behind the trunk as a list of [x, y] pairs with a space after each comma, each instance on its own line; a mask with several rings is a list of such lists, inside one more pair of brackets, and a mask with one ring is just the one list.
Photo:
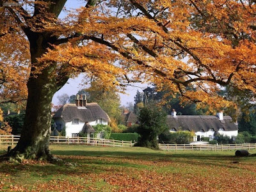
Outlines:
[[[15, 145], [18, 143], [20, 136], [0, 135], [0, 145]], [[110, 146], [110, 147], [132, 147], [132, 141], [106, 140], [98, 138], [65, 138], [64, 136], [51, 136], [50, 144], [84, 144], [93, 146]]]

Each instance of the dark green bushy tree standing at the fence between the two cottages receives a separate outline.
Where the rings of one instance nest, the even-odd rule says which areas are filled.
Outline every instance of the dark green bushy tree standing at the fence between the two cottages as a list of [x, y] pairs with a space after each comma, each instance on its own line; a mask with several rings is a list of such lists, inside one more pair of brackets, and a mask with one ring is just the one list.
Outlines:
[[138, 120], [140, 122], [138, 127], [140, 138], [136, 146], [158, 149], [157, 136], [165, 129], [168, 129], [166, 125], [166, 113], [160, 108], [149, 108], [147, 106], [141, 109]]

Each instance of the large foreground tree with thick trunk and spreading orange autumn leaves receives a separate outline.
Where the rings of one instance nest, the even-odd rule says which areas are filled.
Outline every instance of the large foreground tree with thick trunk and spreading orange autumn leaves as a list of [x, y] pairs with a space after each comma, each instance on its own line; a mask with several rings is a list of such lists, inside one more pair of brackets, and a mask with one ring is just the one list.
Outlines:
[[0, 1], [1, 94], [15, 100], [28, 90], [8, 156], [52, 159], [52, 96], [79, 72], [121, 91], [132, 81], [164, 82], [209, 109], [234, 105], [220, 86], [255, 92], [255, 1], [89, 0], [58, 19], [65, 3]]

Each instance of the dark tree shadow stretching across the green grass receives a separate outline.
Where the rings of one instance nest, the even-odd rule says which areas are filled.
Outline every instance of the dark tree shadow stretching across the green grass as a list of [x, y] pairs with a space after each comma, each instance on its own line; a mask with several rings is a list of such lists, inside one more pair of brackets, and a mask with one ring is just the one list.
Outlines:
[[[54, 164], [0, 164], [0, 173], [10, 174], [13, 177], [20, 177], [20, 174], [33, 174], [35, 179], [38, 178], [56, 178], [56, 177], [79, 177], [80, 175], [86, 175], [90, 173], [102, 173], [102, 172], [118, 172], [119, 168], [138, 168], [147, 169], [154, 167], [154, 163], [170, 162], [170, 163], [182, 163], [182, 164], [198, 164], [202, 166], [216, 166], [227, 167], [232, 166], [232, 163], [243, 163], [247, 159], [250, 161], [256, 160], [256, 157], [235, 157], [230, 152], [225, 153], [205, 153], [204, 152], [163, 152], [155, 150], [134, 150], [132, 151], [113, 151], [111, 150], [52, 150], [52, 154], [61, 156], [64, 161], [70, 163], [76, 163], [77, 166], [70, 167], [65, 165]], [[72, 156], [72, 157], [69, 157]], [[95, 157], [95, 158], [91, 158]], [[97, 158], [99, 157], [99, 158]], [[106, 159], [104, 159], [106, 157]], [[109, 159], [110, 157], [111, 159]], [[136, 162], [122, 161], [138, 160]], [[151, 161], [152, 164], [143, 164], [140, 161]], [[171, 166], [171, 164], [170, 164]], [[230, 167], [230, 168], [236, 168]], [[1, 175], [1, 174], [0, 174]]]

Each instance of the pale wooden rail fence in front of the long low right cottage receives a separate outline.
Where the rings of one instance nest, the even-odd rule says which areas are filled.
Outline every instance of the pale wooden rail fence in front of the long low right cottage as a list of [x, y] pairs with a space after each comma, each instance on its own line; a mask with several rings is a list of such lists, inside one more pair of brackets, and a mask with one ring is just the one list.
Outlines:
[[159, 144], [162, 150], [251, 150], [256, 149], [256, 143], [230, 144], [230, 145], [190, 145], [190, 144]]

